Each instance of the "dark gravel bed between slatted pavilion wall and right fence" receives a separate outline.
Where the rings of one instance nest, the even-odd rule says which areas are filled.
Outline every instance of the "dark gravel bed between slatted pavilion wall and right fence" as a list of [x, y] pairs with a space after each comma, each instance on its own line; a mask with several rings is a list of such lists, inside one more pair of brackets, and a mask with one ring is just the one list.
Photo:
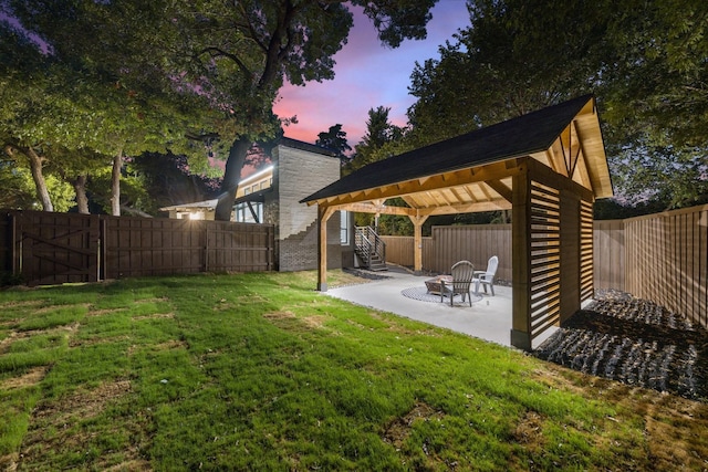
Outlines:
[[595, 301], [534, 355], [585, 374], [708, 401], [708, 331], [624, 292], [597, 291]]

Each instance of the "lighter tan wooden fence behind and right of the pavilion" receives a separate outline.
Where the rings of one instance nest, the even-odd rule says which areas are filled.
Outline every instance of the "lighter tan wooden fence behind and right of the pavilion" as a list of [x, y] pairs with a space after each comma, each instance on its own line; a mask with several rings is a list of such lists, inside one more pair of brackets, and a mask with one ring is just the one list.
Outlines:
[[[413, 238], [382, 237], [388, 262], [413, 266]], [[434, 227], [423, 239], [423, 269], [449, 272], [460, 259], [480, 269], [499, 255], [511, 281], [511, 225]], [[652, 300], [708, 327], [708, 206], [593, 222], [594, 289]]]

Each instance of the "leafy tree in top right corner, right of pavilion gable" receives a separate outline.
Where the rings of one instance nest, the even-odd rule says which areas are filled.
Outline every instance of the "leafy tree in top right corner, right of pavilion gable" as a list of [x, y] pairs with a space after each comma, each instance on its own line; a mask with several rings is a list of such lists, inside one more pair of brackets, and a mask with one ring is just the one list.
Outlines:
[[605, 140], [622, 201], [708, 200], [708, 4], [629, 1], [611, 18]]

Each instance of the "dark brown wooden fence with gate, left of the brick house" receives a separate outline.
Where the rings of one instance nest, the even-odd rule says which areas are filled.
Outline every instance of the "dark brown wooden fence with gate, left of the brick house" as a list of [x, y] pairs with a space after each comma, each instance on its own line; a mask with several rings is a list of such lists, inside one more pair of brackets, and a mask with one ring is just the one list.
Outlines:
[[272, 224], [0, 213], [0, 271], [31, 285], [273, 269]]

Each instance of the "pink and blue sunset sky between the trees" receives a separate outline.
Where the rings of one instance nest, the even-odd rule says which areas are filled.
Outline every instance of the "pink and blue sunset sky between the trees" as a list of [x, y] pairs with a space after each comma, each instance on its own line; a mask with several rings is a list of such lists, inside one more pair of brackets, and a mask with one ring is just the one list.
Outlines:
[[368, 111], [391, 108], [391, 120], [406, 124], [406, 111], [414, 103], [408, 95], [410, 73], [418, 61], [438, 59], [438, 46], [469, 25], [465, 0], [440, 0], [433, 10], [425, 41], [405, 41], [392, 50], [381, 45], [371, 21], [361, 8], [353, 8], [354, 27], [347, 44], [334, 56], [335, 77], [304, 87], [285, 85], [274, 112], [281, 117], [295, 115], [298, 124], [285, 128], [285, 136], [314, 143], [330, 126], [342, 124], [352, 148], [366, 132]]

